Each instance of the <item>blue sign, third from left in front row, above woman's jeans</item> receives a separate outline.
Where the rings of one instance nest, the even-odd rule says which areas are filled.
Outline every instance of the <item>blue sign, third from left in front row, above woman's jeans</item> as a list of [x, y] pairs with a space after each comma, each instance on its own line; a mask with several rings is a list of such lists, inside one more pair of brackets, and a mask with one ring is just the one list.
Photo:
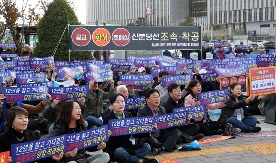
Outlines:
[[153, 127], [155, 117], [135, 117], [124, 119], [109, 119], [108, 129], [111, 130], [111, 136], [155, 132]]

